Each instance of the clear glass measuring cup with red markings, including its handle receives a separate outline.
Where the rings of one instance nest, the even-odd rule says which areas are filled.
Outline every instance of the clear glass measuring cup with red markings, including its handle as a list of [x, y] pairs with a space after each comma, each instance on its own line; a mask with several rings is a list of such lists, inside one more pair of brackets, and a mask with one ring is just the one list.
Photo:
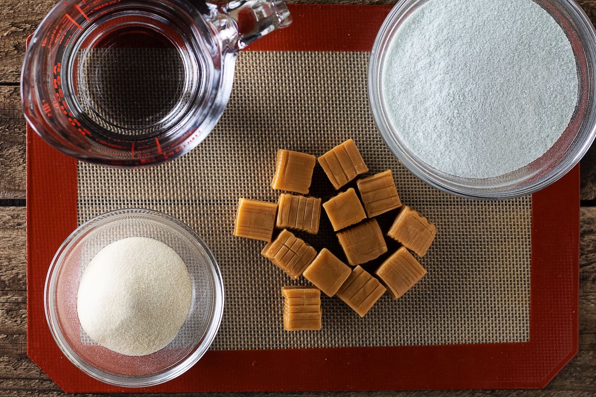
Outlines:
[[290, 23], [283, 0], [61, 1], [29, 40], [24, 115], [79, 160], [172, 160], [218, 122], [238, 51]]

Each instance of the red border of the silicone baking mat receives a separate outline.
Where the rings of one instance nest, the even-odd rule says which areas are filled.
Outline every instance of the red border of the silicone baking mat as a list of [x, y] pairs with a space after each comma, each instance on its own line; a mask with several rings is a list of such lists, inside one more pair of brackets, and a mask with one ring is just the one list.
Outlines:
[[[290, 5], [292, 27], [250, 49], [370, 51], [390, 8]], [[529, 342], [209, 351], [177, 379], [143, 389], [91, 379], [49, 333], [46, 271], [77, 226], [76, 208], [76, 160], [27, 129], [27, 355], [66, 392], [534, 388], [578, 352], [579, 167], [532, 196]]]

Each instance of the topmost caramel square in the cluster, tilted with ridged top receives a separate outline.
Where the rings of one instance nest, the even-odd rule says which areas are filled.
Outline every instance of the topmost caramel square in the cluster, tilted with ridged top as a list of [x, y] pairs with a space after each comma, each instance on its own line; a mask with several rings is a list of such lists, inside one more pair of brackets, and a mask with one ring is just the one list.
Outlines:
[[329, 177], [331, 185], [339, 189], [359, 174], [368, 172], [362, 155], [352, 139], [340, 143], [318, 158], [319, 164]]

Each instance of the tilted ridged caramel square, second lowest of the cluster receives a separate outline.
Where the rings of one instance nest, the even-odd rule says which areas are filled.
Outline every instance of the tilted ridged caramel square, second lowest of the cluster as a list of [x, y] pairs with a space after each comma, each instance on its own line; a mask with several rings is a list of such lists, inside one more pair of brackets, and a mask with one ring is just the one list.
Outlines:
[[356, 266], [337, 291], [337, 296], [360, 317], [364, 317], [385, 291], [377, 279], [361, 266]]

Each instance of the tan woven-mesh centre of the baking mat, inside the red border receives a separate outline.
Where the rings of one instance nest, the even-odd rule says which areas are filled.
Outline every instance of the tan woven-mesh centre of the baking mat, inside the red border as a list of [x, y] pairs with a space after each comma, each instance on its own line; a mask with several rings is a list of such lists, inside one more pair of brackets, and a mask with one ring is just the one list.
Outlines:
[[[224, 276], [224, 319], [212, 349], [527, 341], [530, 196], [470, 201], [441, 193], [405, 170], [370, 112], [368, 56], [242, 52], [222, 120], [190, 154], [146, 170], [79, 162], [79, 223], [105, 211], [142, 207], [193, 227]], [[318, 156], [348, 138], [371, 174], [392, 170], [402, 202], [436, 224], [436, 240], [420, 260], [428, 274], [398, 301], [383, 296], [364, 318], [338, 298], [322, 296], [321, 331], [285, 332], [281, 287], [308, 282], [293, 282], [262, 257], [264, 242], [232, 236], [238, 198], [277, 201], [280, 192], [270, 186], [277, 149]], [[317, 167], [311, 194], [325, 198], [333, 192]], [[305, 240], [341, 254], [325, 216], [319, 234]], [[384, 231], [393, 217], [395, 211], [380, 217]]]

